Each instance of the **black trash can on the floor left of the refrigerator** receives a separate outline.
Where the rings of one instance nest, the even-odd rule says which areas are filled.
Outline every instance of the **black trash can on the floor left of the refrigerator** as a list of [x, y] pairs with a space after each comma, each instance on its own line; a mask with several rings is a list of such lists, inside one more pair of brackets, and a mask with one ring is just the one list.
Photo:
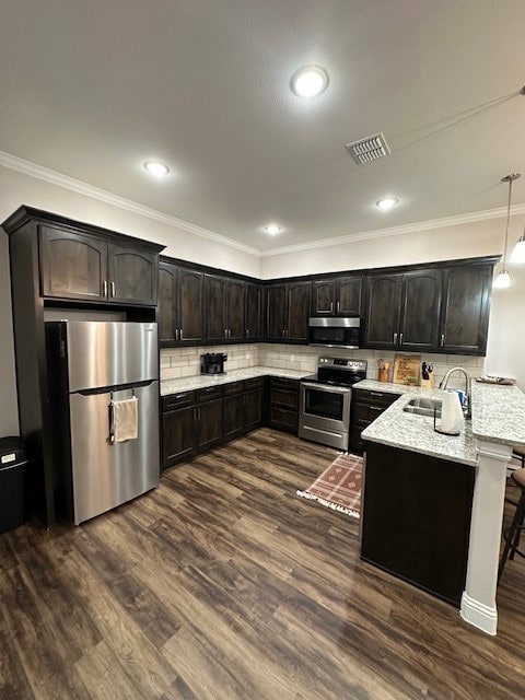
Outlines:
[[25, 523], [30, 516], [30, 460], [20, 438], [0, 438], [0, 533]]

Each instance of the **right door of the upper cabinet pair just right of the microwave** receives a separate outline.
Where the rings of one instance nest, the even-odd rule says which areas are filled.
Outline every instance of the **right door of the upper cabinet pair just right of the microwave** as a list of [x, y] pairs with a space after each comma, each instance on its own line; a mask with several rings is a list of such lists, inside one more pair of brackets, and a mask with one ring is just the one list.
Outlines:
[[438, 348], [441, 307], [441, 270], [420, 270], [402, 276], [399, 347], [410, 351]]

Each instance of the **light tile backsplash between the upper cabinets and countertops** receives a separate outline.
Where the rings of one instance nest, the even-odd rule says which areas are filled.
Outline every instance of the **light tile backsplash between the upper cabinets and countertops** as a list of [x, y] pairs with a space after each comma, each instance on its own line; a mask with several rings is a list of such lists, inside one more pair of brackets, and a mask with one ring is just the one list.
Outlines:
[[[368, 361], [366, 376], [369, 380], [377, 378], [377, 368], [381, 360], [390, 363], [392, 380], [395, 358], [395, 352], [384, 352], [383, 350], [343, 350], [264, 342], [236, 346], [163, 348], [161, 350], [161, 378], [175, 380], [200, 374], [200, 355], [205, 352], [226, 352], [226, 370], [229, 371], [244, 370], [260, 364], [285, 370], [301, 370], [312, 374], [317, 371], [319, 357], [354, 358]], [[480, 376], [485, 368], [485, 358], [469, 355], [421, 353], [421, 361], [423, 360], [434, 368], [434, 386], [439, 385], [451, 368], [463, 366], [471, 377]], [[460, 388], [462, 386], [463, 377], [459, 374], [454, 375], [451, 378], [451, 387]]]

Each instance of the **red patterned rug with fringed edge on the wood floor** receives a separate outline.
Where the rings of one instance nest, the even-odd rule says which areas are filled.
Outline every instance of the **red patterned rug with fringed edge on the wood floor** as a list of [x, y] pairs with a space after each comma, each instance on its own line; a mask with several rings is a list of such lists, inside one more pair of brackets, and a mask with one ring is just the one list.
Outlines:
[[362, 457], [341, 454], [311, 487], [305, 491], [298, 491], [298, 495], [351, 517], [360, 517], [362, 478]]

